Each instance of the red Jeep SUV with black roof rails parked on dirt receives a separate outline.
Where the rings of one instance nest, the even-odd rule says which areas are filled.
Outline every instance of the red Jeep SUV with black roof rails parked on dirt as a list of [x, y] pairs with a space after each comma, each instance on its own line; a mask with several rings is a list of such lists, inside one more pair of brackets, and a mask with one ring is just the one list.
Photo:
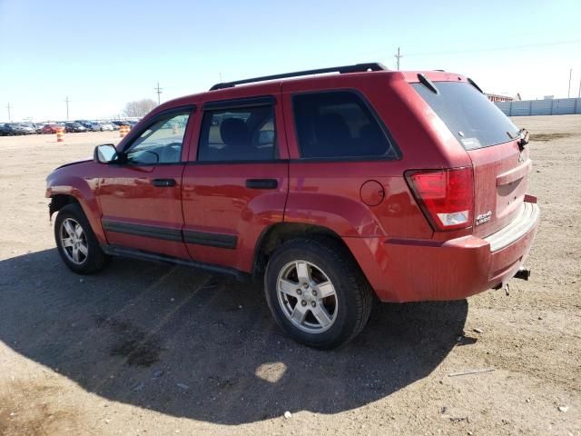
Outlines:
[[162, 104], [46, 196], [74, 272], [122, 255], [263, 277], [281, 328], [331, 348], [374, 293], [455, 300], [527, 277], [526, 145], [466, 77], [357, 64]]

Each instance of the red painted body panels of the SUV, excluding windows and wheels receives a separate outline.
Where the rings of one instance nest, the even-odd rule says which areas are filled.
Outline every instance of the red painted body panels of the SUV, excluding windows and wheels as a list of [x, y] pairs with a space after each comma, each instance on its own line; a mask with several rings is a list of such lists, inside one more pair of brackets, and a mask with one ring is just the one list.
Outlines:
[[[423, 72], [430, 80], [466, 81], [458, 74]], [[348, 245], [383, 301], [450, 300], [482, 292], [512, 277], [524, 262], [536, 226], [497, 253], [482, 239], [510, 223], [525, 200], [527, 151], [516, 142], [466, 152], [410, 86], [417, 72], [336, 74], [195, 94], [154, 109], [123, 138], [130, 144], [159, 112], [196, 104], [182, 147], [182, 163], [150, 167], [85, 162], [47, 179], [46, 196], [73, 195], [100, 243], [115, 243], [182, 259], [251, 272], [261, 234], [276, 223], [325, 227]], [[399, 145], [401, 159], [369, 162], [300, 160], [291, 95], [333, 89], [363, 94]], [[280, 161], [196, 163], [204, 102], [273, 95]], [[474, 167], [475, 215], [492, 212], [478, 227], [434, 232], [404, 179], [407, 170]], [[520, 165], [520, 166], [519, 166]], [[153, 178], [173, 178], [171, 188]], [[278, 181], [274, 190], [248, 189], [247, 179]], [[373, 184], [367, 184], [373, 180]], [[381, 201], [379, 192], [383, 192]], [[364, 202], [362, 198], [369, 201]], [[374, 204], [374, 205], [369, 205]], [[105, 233], [102, 220], [237, 237], [235, 249]]]

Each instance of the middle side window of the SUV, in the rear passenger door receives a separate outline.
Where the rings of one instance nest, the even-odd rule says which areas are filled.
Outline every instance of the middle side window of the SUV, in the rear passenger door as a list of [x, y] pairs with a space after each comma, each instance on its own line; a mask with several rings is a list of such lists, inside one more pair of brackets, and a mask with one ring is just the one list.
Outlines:
[[204, 112], [198, 161], [270, 161], [275, 158], [276, 134], [271, 105]]

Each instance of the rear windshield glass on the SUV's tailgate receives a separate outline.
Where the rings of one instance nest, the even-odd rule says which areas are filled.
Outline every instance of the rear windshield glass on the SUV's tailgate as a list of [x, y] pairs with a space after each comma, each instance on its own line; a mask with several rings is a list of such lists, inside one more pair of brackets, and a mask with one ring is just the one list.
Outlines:
[[411, 84], [466, 150], [502, 144], [517, 136], [517, 126], [487, 96], [466, 82], [436, 82], [439, 94]]

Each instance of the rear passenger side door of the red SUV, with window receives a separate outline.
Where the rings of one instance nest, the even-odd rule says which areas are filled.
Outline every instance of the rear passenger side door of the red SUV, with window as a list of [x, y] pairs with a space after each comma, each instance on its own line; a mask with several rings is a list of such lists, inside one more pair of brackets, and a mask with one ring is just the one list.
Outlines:
[[250, 271], [261, 233], [282, 221], [289, 162], [278, 96], [203, 104], [182, 189], [194, 261]]

